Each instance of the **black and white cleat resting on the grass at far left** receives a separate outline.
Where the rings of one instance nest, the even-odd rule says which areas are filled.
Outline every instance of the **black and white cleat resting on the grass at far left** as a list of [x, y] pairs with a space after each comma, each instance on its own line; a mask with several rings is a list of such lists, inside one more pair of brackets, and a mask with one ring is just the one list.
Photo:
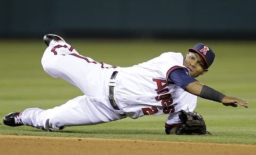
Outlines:
[[7, 126], [22, 126], [21, 112], [11, 112], [3, 118], [3, 123]]

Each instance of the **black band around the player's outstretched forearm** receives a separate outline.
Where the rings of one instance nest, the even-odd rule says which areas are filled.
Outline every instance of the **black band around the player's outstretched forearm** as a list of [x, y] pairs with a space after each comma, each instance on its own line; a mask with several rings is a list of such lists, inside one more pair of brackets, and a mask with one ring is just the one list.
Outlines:
[[200, 97], [216, 102], [221, 102], [221, 100], [225, 97], [224, 94], [215, 91], [213, 88], [210, 88], [206, 85], [203, 85], [201, 92], [200, 92]]

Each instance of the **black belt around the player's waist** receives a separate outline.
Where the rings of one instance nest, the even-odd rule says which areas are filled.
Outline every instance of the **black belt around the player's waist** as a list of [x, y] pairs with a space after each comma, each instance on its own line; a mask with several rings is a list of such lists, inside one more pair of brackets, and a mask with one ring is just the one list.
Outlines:
[[[114, 71], [113, 74], [111, 75], [111, 80], [115, 79], [115, 77], [117, 77], [118, 75], [118, 71]], [[113, 85], [111, 85], [113, 84]], [[108, 95], [108, 100], [110, 100], [110, 104], [112, 105], [112, 107], [115, 109], [115, 110], [120, 110], [118, 108], [118, 105], [117, 103], [115, 102], [115, 99], [114, 99], [114, 87], [115, 87], [115, 84], [113, 81], [110, 81], [110, 86], [109, 86], [109, 92], [110, 92], [110, 95]], [[126, 116], [125, 113], [123, 114], [120, 114], [119, 115], [122, 115], [122, 116]]]

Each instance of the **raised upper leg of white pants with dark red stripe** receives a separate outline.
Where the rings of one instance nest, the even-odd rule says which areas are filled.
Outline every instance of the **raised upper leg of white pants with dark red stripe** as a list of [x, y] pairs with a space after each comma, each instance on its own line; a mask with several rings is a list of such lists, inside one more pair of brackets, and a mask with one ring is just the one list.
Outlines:
[[113, 70], [108, 64], [80, 55], [69, 44], [54, 40], [46, 48], [41, 63], [52, 77], [67, 80], [87, 96], [95, 97], [102, 96], [106, 72]]

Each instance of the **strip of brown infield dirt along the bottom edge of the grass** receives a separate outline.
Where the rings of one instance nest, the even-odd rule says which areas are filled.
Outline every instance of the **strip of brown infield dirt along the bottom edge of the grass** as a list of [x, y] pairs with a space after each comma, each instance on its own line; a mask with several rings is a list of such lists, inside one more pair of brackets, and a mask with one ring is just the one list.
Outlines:
[[0, 135], [0, 154], [256, 154], [256, 145]]

